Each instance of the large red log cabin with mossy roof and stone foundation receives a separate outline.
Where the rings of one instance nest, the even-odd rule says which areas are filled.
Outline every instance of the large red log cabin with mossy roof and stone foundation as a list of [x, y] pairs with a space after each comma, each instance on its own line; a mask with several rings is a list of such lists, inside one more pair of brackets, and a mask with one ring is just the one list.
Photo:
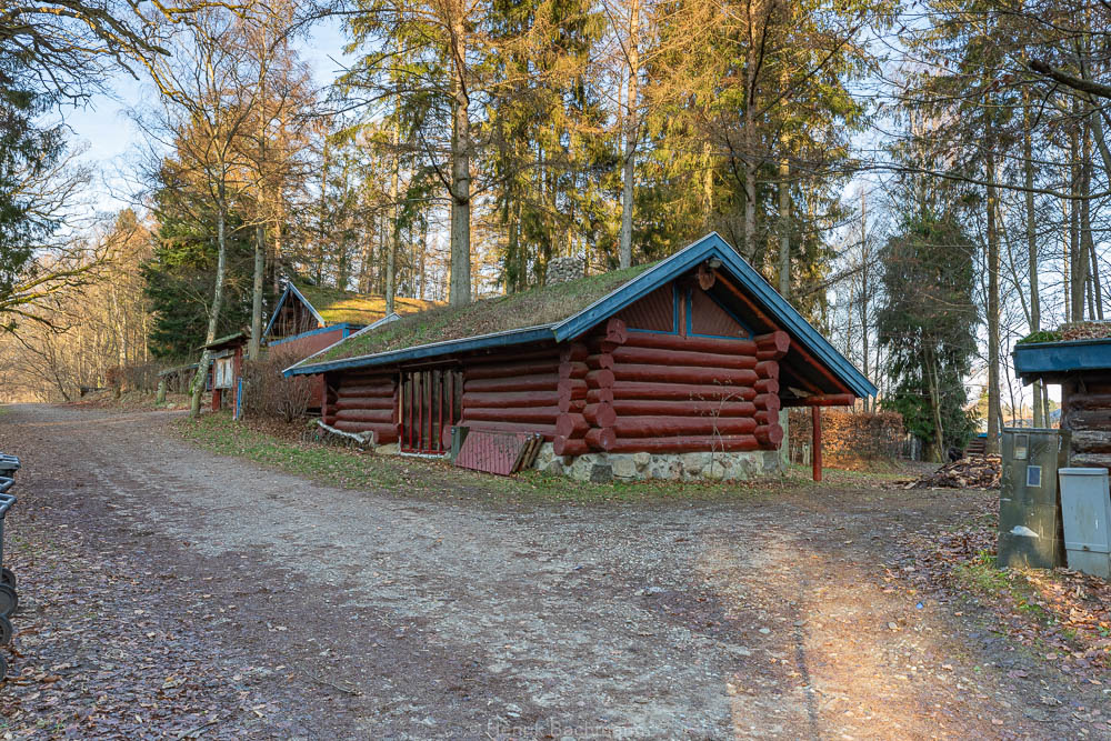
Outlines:
[[715, 233], [653, 264], [413, 313], [286, 370], [317, 373], [321, 421], [383, 450], [446, 454], [454, 427], [534, 432], [538, 465], [578, 478], [778, 470], [783, 407], [875, 393]]

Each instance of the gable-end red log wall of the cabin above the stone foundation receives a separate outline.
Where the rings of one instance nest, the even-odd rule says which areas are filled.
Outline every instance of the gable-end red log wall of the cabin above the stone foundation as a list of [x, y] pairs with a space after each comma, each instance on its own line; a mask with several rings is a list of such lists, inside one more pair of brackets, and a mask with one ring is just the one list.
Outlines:
[[750, 337], [697, 286], [660, 289], [561, 349], [553, 452], [777, 450], [789, 349], [781, 331]]

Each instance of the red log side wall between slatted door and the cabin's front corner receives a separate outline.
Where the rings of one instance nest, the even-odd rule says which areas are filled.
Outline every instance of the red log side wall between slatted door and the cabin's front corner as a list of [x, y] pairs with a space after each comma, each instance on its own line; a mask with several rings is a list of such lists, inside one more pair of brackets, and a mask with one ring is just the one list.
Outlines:
[[551, 442], [560, 413], [559, 370], [554, 346], [467, 360], [459, 423], [472, 430], [539, 432]]

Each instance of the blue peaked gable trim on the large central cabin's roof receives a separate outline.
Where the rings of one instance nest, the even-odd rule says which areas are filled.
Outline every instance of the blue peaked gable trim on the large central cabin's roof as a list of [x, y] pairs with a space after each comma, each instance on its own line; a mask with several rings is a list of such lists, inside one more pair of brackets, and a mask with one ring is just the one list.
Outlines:
[[758, 273], [748, 262], [723, 240], [718, 232], [711, 232], [693, 244], [680, 250], [651, 270], [647, 270], [618, 290], [595, 301], [575, 316], [556, 324], [556, 340], [579, 337], [603, 319], [621, 311], [653, 287], [662, 286], [698, 267], [699, 263], [718, 258], [750, 293], [758, 303], [763, 304], [768, 312], [782, 324], [783, 329], [815, 358], [824, 362], [858, 397], [874, 397], [879, 393], [875, 385], [863, 373], [857, 370], [849, 360], [829, 343], [821, 332], [815, 330], [787, 299], [773, 289], [763, 276]]

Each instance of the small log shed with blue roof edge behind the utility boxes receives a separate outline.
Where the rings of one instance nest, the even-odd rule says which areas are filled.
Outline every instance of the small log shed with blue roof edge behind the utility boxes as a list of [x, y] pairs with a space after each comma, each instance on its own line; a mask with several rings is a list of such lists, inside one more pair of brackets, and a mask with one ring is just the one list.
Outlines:
[[[1107, 326], [1111, 334], [1111, 326]], [[1014, 371], [1027, 383], [1061, 385], [1061, 429], [1070, 430], [1070, 464], [1111, 469], [1111, 337], [1014, 347]]]

